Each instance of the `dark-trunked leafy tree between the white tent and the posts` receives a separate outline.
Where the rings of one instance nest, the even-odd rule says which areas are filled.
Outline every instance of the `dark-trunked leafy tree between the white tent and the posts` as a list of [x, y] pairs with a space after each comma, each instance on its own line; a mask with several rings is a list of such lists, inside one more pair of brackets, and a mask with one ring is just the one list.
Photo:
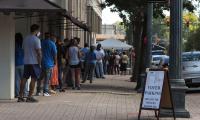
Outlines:
[[[132, 81], [137, 81], [136, 89], [140, 88], [141, 80], [139, 75], [145, 72], [144, 55], [144, 38], [146, 37], [146, 23], [147, 23], [147, 1], [148, 0], [106, 0], [107, 6], [112, 6], [113, 12], [119, 12], [119, 16], [123, 19], [126, 26], [132, 26], [133, 36], [136, 50], [136, 62]], [[190, 0], [184, 1], [184, 7], [189, 11], [195, 8]], [[154, 4], [154, 17], [165, 17], [163, 10], [169, 10], [168, 4]]]

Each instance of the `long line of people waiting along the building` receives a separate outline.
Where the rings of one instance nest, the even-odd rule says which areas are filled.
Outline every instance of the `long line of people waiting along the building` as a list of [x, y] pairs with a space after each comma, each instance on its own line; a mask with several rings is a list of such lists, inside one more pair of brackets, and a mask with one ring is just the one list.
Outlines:
[[[45, 33], [45, 38], [40, 40], [40, 27], [36, 24], [30, 27], [30, 31], [24, 40], [20, 33], [15, 36], [15, 96], [18, 102], [38, 102], [33, 97], [36, 83], [36, 95], [43, 93], [43, 96], [51, 96], [57, 90], [65, 92], [66, 87], [80, 90], [81, 79], [82, 83], [86, 80], [92, 83], [94, 76], [105, 79], [104, 62], [107, 55], [101, 44], [89, 47], [86, 43], [81, 48], [79, 38], [62, 42], [51, 33]], [[125, 52], [121, 57], [114, 53], [113, 58], [115, 61], [109, 61], [114, 63], [113, 68], [119, 73], [121, 64], [121, 71], [126, 71], [128, 56]]]

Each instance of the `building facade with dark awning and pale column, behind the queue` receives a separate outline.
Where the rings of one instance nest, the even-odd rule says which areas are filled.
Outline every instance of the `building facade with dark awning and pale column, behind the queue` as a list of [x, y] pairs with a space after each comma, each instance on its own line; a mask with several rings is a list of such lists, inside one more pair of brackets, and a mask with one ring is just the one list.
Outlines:
[[[39, 5], [38, 5], [39, 3]], [[41, 26], [41, 39], [45, 32], [54, 33], [61, 40], [79, 37], [80, 45], [95, 43], [100, 32], [100, 0], [6, 0], [0, 1], [0, 99], [14, 98], [15, 33], [25, 37], [30, 26]]]

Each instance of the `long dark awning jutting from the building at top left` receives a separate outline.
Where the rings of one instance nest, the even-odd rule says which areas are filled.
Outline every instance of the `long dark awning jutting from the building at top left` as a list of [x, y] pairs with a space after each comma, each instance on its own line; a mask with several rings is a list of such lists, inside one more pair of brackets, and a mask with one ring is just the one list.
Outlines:
[[59, 13], [69, 19], [73, 24], [89, 31], [86, 24], [77, 20], [68, 11], [49, 0], [0, 0], [0, 12], [45, 12], [48, 14]]

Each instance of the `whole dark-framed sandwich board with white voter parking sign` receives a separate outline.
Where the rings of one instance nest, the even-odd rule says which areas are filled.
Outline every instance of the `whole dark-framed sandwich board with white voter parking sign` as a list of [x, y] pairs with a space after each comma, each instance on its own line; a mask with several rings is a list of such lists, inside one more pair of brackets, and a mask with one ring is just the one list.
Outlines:
[[155, 116], [159, 120], [160, 108], [172, 109], [175, 119], [168, 72], [166, 70], [150, 69], [142, 93], [138, 119], [140, 120], [142, 110], [154, 110]]

